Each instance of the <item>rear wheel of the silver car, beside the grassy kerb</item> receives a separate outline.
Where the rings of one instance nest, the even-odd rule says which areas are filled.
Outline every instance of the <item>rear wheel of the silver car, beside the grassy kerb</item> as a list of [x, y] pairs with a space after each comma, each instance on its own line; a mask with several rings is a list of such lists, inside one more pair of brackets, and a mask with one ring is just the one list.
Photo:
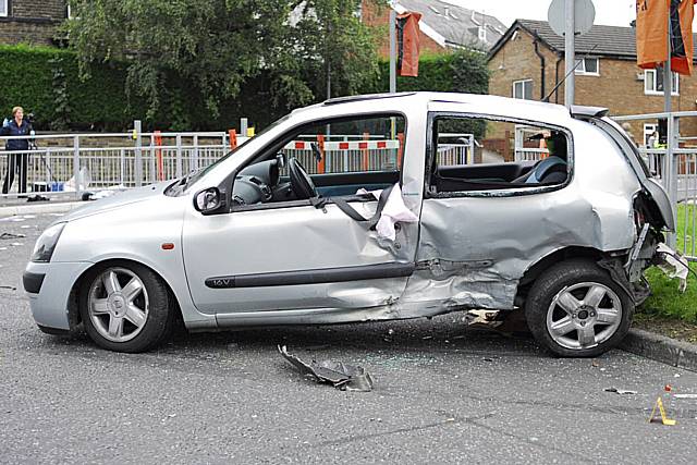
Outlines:
[[558, 264], [536, 281], [525, 304], [530, 332], [562, 357], [594, 357], [617, 345], [632, 325], [634, 304], [590, 260]]

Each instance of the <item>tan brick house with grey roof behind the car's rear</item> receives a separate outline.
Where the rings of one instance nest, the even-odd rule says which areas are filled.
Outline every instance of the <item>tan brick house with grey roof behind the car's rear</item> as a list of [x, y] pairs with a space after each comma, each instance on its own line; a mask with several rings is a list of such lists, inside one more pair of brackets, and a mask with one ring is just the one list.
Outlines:
[[[576, 70], [577, 105], [607, 107], [613, 115], [663, 111], [662, 72], [636, 65], [633, 27], [594, 26], [577, 37], [576, 57], [583, 61]], [[541, 100], [564, 79], [564, 38], [547, 22], [517, 20], [489, 52], [489, 93]], [[673, 83], [673, 110], [697, 110], [697, 76], [675, 74]], [[563, 105], [563, 84], [549, 101]], [[637, 143], [645, 143], [656, 127], [657, 121], [632, 123]], [[681, 133], [697, 135], [697, 121], [681, 123]]]

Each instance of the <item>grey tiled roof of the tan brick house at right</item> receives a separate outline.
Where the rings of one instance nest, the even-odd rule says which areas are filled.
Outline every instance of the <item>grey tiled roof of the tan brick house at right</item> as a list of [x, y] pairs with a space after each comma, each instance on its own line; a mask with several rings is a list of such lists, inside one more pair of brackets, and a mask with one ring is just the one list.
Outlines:
[[[564, 51], [564, 37], [558, 36], [547, 21], [516, 20], [491, 48], [489, 58], [493, 57], [519, 28], [539, 37], [553, 51], [560, 53]], [[576, 37], [576, 53], [634, 60], [636, 59], [636, 30], [634, 27], [594, 25], [588, 33]]]

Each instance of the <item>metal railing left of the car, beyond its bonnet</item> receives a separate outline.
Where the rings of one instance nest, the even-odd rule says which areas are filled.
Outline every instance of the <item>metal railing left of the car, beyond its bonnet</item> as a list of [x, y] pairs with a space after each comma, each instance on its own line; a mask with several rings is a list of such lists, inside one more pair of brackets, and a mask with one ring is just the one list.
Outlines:
[[12, 178], [9, 169], [15, 171], [0, 200], [35, 193], [80, 197], [87, 189], [137, 187], [206, 167], [230, 150], [223, 132], [13, 136], [0, 137], [0, 144], [10, 139], [26, 139], [30, 149], [0, 151], [3, 187]]

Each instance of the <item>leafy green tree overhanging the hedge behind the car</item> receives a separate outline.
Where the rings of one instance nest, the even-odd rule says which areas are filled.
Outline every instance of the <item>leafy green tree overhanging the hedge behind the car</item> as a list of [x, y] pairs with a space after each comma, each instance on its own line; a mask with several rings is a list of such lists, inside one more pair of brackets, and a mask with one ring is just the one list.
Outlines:
[[[375, 0], [377, 1], [377, 0]], [[248, 79], [268, 78], [273, 105], [291, 108], [339, 94], [376, 73], [374, 38], [355, 15], [359, 0], [71, 0], [65, 26], [81, 70], [124, 62], [126, 90], [152, 119], [181, 79], [211, 118]], [[328, 65], [329, 64], [329, 65]], [[181, 86], [178, 86], [181, 87]]]

